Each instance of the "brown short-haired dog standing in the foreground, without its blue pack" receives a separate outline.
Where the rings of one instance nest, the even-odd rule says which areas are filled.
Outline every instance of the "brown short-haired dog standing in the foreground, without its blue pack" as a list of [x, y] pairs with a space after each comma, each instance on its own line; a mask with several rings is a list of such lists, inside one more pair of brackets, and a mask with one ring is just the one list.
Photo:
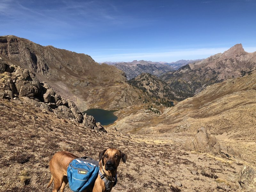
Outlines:
[[[50, 171], [52, 173], [51, 180], [46, 188], [49, 188], [54, 180], [54, 187], [52, 192], [64, 192], [64, 188], [68, 183], [67, 177], [67, 167], [69, 163], [78, 158], [78, 156], [73, 155], [67, 151], [60, 151], [53, 155], [50, 161]], [[117, 167], [120, 163], [120, 160], [125, 163], [126, 162], [126, 155], [117, 149], [105, 149], [100, 151], [99, 153], [99, 165], [100, 165], [100, 172], [104, 175], [105, 178], [111, 180], [115, 178]], [[111, 191], [114, 182], [110, 182], [110, 186], [108, 192]], [[84, 190], [90, 192], [106, 192], [106, 186], [104, 180], [100, 178], [100, 174], [94, 183], [94, 186]]]

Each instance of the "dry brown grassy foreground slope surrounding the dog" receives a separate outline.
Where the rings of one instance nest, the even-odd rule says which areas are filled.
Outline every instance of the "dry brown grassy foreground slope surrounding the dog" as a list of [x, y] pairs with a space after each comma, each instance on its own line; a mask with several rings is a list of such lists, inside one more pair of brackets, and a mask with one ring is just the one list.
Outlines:
[[51, 177], [49, 161], [60, 150], [95, 159], [104, 148], [124, 151], [128, 159], [118, 167], [113, 192], [242, 191], [240, 172], [245, 165], [253, 166], [225, 155], [185, 151], [185, 140], [194, 133], [140, 136], [107, 128], [107, 134], [100, 134], [5, 99], [0, 100], [0, 117], [0, 191], [50, 192], [52, 187], [45, 189]]

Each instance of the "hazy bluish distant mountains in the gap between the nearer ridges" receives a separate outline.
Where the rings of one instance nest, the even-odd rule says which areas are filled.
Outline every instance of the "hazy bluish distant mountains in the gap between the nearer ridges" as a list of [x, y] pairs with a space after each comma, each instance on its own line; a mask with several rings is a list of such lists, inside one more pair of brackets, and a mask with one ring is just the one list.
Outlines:
[[134, 60], [132, 62], [108, 62], [114, 65], [116, 68], [124, 71], [128, 80], [140, 75], [141, 73], [149, 73], [155, 76], [160, 76], [168, 71], [173, 71], [171, 66], [152, 61]]

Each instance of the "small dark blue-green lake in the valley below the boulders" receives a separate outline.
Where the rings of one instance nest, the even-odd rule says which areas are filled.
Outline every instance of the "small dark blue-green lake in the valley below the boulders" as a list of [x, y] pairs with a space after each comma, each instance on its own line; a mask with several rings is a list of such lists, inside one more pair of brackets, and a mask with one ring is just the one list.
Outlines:
[[96, 122], [100, 122], [102, 125], [108, 125], [116, 121], [117, 116], [114, 115], [116, 110], [104, 110], [104, 109], [88, 109], [83, 112], [87, 115], [94, 116]]

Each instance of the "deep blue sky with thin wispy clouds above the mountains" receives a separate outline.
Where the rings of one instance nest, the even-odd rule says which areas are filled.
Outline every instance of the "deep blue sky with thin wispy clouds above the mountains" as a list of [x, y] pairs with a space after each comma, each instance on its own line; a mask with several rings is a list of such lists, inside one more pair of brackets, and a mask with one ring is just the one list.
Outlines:
[[256, 0], [0, 0], [0, 35], [97, 61], [201, 59], [256, 51]]

